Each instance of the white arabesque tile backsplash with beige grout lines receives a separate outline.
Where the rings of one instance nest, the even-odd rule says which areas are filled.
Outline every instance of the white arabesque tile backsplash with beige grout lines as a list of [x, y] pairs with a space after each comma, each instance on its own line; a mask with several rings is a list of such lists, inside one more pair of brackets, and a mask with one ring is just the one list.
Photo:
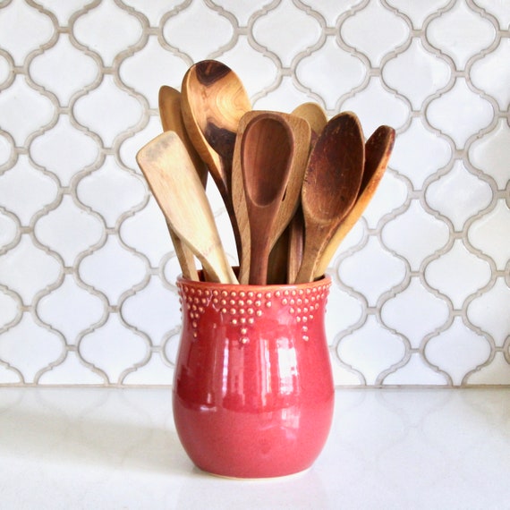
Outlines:
[[510, 385], [509, 23], [508, 0], [0, 2], [0, 385], [171, 384], [179, 267], [135, 154], [205, 58], [256, 109], [396, 129], [329, 268], [336, 384]]

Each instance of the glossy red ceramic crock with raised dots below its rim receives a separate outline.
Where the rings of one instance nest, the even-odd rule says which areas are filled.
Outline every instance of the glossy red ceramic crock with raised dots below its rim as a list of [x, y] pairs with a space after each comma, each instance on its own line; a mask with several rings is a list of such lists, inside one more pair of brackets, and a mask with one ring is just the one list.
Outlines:
[[331, 285], [177, 282], [183, 332], [174, 421], [200, 469], [235, 478], [302, 472], [326, 443], [334, 387], [324, 328]]

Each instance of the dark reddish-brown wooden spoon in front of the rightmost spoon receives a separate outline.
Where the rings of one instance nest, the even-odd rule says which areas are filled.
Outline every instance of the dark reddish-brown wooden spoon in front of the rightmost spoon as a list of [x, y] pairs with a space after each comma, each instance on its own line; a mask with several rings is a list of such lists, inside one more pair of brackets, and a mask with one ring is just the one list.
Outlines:
[[310, 282], [319, 259], [361, 186], [365, 143], [352, 112], [333, 117], [311, 149], [302, 185], [305, 236], [296, 283]]

